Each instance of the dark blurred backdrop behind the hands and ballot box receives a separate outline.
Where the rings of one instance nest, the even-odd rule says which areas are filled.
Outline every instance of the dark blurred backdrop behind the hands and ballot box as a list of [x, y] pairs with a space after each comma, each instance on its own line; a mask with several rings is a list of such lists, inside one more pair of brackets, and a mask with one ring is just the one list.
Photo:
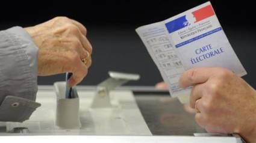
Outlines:
[[[33, 26], [55, 16], [83, 23], [93, 46], [93, 64], [81, 84], [96, 85], [107, 71], [139, 73], [130, 85], [155, 85], [162, 81], [135, 29], [159, 22], [207, 1], [10, 1], [1, 4], [0, 30], [11, 26]], [[254, 2], [211, 1], [233, 49], [246, 68], [243, 78], [256, 88], [256, 28]], [[39, 77], [40, 85], [64, 81], [64, 75]]]

